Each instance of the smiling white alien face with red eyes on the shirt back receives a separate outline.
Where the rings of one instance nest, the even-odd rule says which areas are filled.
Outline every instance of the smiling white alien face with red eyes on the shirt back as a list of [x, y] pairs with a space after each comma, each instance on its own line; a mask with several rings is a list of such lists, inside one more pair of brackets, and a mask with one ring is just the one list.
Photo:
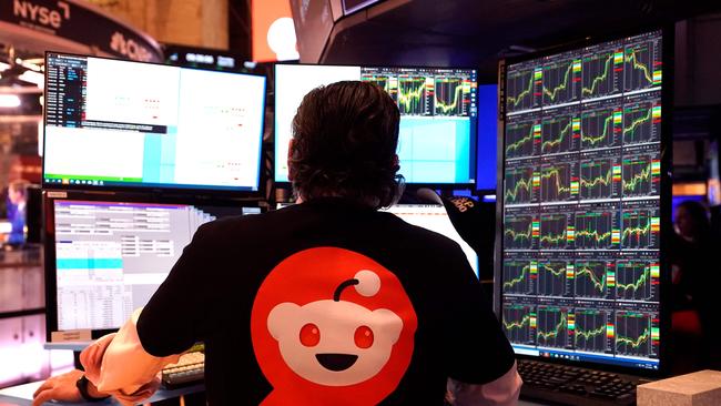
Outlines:
[[[364, 296], [377, 292], [363, 288], [367, 290], [367, 284], [356, 286]], [[319, 385], [348, 386], [383, 369], [403, 321], [387, 308], [369, 311], [353, 302], [323, 300], [304, 306], [276, 305], [267, 327], [293, 372]]]

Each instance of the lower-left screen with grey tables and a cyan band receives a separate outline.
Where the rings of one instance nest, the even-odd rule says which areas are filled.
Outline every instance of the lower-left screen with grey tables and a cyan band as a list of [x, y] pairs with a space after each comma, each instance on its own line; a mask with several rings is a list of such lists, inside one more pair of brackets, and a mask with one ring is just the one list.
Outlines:
[[55, 199], [47, 205], [48, 339], [121, 327], [144, 306], [195, 231], [260, 207]]

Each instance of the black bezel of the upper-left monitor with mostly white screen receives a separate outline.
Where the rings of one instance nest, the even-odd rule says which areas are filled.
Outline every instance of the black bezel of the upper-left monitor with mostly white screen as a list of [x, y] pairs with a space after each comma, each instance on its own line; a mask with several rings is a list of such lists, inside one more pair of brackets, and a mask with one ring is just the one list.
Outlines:
[[[131, 63], [140, 63], [140, 64], [151, 64], [151, 65], [160, 65], [160, 67], [171, 67], [171, 68], [176, 68], [176, 69], [184, 69], [184, 70], [195, 70], [195, 71], [205, 71], [205, 72], [217, 72], [217, 73], [224, 73], [224, 74], [236, 74], [236, 75], [246, 75], [246, 77], [255, 77], [255, 78], [263, 78], [263, 102], [262, 102], [262, 116], [261, 116], [261, 131], [260, 131], [260, 140], [258, 140], [258, 162], [257, 162], [257, 179], [256, 179], [256, 189], [252, 190], [247, 189], [245, 186], [211, 186], [211, 185], [184, 185], [184, 184], [149, 184], [148, 186], [143, 185], [122, 185], [122, 184], [111, 184], [111, 185], [89, 185], [89, 184], [62, 184], [62, 183], [49, 183], [45, 181], [45, 160], [42, 161], [42, 173], [41, 173], [41, 185], [43, 189], [48, 190], [62, 190], [62, 191], [106, 191], [106, 192], [126, 192], [126, 193], [133, 193], [133, 192], [144, 192], [144, 193], [151, 193], [151, 194], [156, 194], [156, 195], [167, 195], [167, 196], [182, 196], [182, 197], [190, 197], [192, 199], [193, 196], [197, 195], [203, 195], [203, 196], [209, 196], [209, 197], [214, 197], [214, 196], [229, 196], [229, 197], [257, 197], [261, 199], [262, 196], [265, 195], [265, 176], [264, 176], [264, 156], [265, 156], [265, 143], [263, 142], [264, 134], [265, 134], [265, 110], [266, 110], [266, 104], [267, 104], [267, 91], [268, 91], [268, 78], [264, 74], [257, 74], [257, 73], [245, 73], [245, 72], [230, 72], [230, 71], [220, 71], [216, 69], [211, 69], [211, 68], [204, 68], [204, 67], [177, 67], [173, 64], [166, 64], [166, 63], [160, 63], [160, 62], [146, 62], [146, 61], [133, 61], [133, 60], [126, 60], [126, 59], [120, 59], [120, 58], [108, 58], [108, 57], [98, 57], [98, 55], [89, 55], [89, 54], [80, 54], [80, 53], [72, 53], [72, 52], [62, 52], [62, 51], [51, 51], [48, 50], [45, 51], [44, 54], [44, 63], [45, 67], [48, 65], [48, 57], [49, 55], [61, 55], [61, 57], [74, 57], [74, 58], [95, 58], [95, 59], [103, 59], [103, 60], [112, 60], [112, 61], [120, 61], [120, 62], [131, 62]], [[43, 89], [43, 95], [47, 97], [48, 92], [48, 74], [44, 75], [44, 89]], [[45, 151], [45, 143], [48, 140], [47, 136], [47, 129], [48, 129], [48, 111], [47, 109], [43, 109], [42, 113], [42, 132], [43, 132], [43, 142], [42, 142], [42, 156], [47, 156], [47, 151]]]

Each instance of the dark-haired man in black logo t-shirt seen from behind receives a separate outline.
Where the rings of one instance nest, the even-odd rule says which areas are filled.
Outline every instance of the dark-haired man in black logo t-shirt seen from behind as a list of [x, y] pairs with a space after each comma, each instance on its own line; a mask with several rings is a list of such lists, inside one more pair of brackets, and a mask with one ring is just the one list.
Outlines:
[[[149, 396], [205, 343], [211, 405], [515, 404], [512, 351], [460, 247], [394, 203], [398, 109], [380, 88], [309, 92], [293, 122], [291, 207], [202, 226], [150, 303], [81, 355], [84, 397]], [[79, 399], [82, 373], [35, 404]], [[88, 382], [89, 380], [89, 382]]]

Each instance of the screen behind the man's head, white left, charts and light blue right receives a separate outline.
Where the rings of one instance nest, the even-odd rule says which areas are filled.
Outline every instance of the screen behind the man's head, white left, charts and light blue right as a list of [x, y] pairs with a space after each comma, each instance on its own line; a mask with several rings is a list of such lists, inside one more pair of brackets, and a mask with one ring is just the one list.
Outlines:
[[378, 84], [398, 103], [399, 173], [406, 183], [475, 184], [476, 75], [474, 69], [277, 64], [275, 181], [288, 181], [288, 141], [303, 97], [323, 84], [363, 80]]

